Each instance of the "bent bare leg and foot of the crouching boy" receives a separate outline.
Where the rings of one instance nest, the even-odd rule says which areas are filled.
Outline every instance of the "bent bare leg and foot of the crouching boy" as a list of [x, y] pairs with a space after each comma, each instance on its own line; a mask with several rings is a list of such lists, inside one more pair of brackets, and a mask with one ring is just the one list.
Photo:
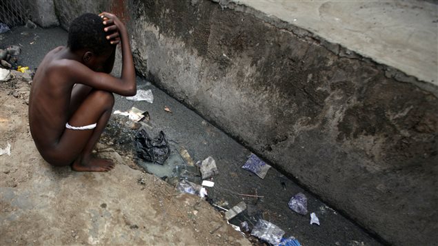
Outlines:
[[74, 127], [97, 123], [92, 130], [66, 129], [59, 140], [59, 159], [69, 161], [76, 171], [105, 172], [114, 164], [110, 160], [92, 158], [91, 152], [110, 119], [114, 96], [110, 92], [92, 90], [72, 114], [68, 123]]

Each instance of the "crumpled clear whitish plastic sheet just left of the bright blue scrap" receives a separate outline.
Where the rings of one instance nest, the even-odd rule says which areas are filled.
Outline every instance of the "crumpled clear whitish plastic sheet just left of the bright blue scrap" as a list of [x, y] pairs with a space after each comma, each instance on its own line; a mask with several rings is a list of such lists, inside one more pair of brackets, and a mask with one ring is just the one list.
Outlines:
[[251, 231], [251, 236], [257, 236], [271, 245], [278, 245], [284, 234], [280, 227], [262, 219], [257, 221], [257, 225]]

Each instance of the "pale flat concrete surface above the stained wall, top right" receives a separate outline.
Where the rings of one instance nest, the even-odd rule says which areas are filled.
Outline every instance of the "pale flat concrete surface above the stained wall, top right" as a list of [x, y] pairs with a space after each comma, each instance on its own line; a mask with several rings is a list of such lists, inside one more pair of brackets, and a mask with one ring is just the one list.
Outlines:
[[233, 1], [438, 85], [436, 1]]

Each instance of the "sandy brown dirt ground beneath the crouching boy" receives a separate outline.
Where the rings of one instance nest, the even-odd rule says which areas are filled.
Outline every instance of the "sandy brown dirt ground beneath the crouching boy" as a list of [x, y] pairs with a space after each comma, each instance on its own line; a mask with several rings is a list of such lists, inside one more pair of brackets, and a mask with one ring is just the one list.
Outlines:
[[111, 172], [48, 165], [29, 132], [29, 89], [19, 76], [0, 82], [0, 147], [11, 145], [0, 156], [0, 245], [250, 245], [202, 198], [105, 145]]

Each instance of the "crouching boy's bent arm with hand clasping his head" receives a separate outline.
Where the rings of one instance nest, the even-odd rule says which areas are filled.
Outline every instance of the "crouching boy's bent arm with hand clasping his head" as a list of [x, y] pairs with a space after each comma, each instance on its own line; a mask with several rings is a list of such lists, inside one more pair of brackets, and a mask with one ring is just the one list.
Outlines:
[[68, 72], [68, 74], [63, 75], [72, 78], [71, 83], [82, 83], [97, 90], [106, 90], [122, 96], [134, 96], [137, 93], [137, 83], [135, 81], [135, 68], [132, 61], [128, 31], [125, 25], [114, 14], [103, 12], [100, 15], [108, 18], [108, 20], [104, 21], [106, 22], [104, 23], [105, 25], [109, 25], [106, 27], [106, 31], [116, 31], [109, 35], [109, 39], [114, 40], [117, 36], [120, 36], [123, 63], [120, 79], [105, 72], [94, 72], [82, 63], [67, 59], [58, 64], [63, 68], [59, 71]]

